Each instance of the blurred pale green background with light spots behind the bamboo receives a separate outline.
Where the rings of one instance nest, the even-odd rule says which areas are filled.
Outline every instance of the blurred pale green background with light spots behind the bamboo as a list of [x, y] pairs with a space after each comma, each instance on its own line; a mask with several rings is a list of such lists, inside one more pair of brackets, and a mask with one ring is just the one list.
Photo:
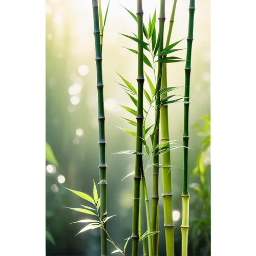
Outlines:
[[[103, 16], [108, 1], [102, 0]], [[133, 119], [117, 103], [133, 107], [129, 96], [118, 86], [120, 78], [115, 70], [137, 87], [137, 56], [122, 48], [137, 49], [135, 42], [119, 33], [137, 33], [135, 20], [122, 7], [136, 13], [136, 1], [111, 0], [103, 38], [103, 79], [105, 102], [105, 137], [108, 179], [108, 214], [117, 215], [108, 221], [109, 233], [119, 248], [124, 239], [132, 233], [133, 178], [123, 177], [134, 170], [134, 155], [112, 155], [134, 150], [135, 137], [119, 130], [116, 126], [132, 130], [134, 126], [115, 115]], [[165, 38], [172, 11], [173, 1], [166, 1]], [[153, 16], [159, 1], [143, 2], [144, 24], [149, 15]], [[177, 3], [171, 43], [187, 36], [189, 0]], [[156, 23], [158, 31], [158, 22]], [[46, 253], [47, 256], [96, 256], [100, 255], [100, 232], [89, 230], [75, 235], [84, 226], [70, 224], [87, 216], [63, 206], [79, 207], [84, 201], [63, 188], [63, 186], [83, 191], [92, 196], [93, 179], [96, 184], [98, 174], [98, 113], [96, 89], [95, 46], [93, 35], [92, 3], [87, 0], [46, 0], [46, 141], [51, 145], [59, 162], [59, 167], [47, 163], [46, 172]], [[192, 72], [190, 82], [191, 100], [189, 113], [190, 174], [190, 220], [188, 255], [210, 255], [210, 151], [202, 155], [199, 173], [193, 170], [199, 164], [198, 155], [202, 149], [196, 123], [203, 124], [200, 116], [210, 115], [210, 1], [196, 1], [194, 22], [194, 42]], [[177, 47], [176, 47], [177, 48]], [[186, 48], [186, 40], [179, 44]], [[184, 58], [186, 51], [179, 51]], [[167, 65], [168, 87], [184, 86], [184, 62]], [[153, 72], [144, 65], [145, 71], [153, 79]], [[145, 80], [145, 88], [149, 90]], [[176, 90], [183, 95], [184, 88]], [[200, 102], [199, 102], [200, 101]], [[135, 119], [134, 119], [135, 120]], [[154, 123], [154, 111], [148, 116], [148, 126]], [[180, 139], [183, 134], [183, 104], [169, 105], [170, 140]], [[209, 131], [207, 130], [209, 133]], [[207, 134], [206, 132], [206, 134]], [[205, 134], [205, 137], [206, 137]], [[200, 135], [200, 134], [199, 134]], [[208, 135], [208, 134], [207, 134]], [[172, 151], [172, 164], [183, 166], [182, 148]], [[144, 160], [145, 161], [145, 160]], [[202, 178], [204, 176], [204, 178]], [[205, 179], [205, 182], [203, 183]], [[152, 169], [146, 173], [148, 196], [152, 191]], [[98, 186], [98, 185], [97, 185]], [[172, 168], [173, 208], [175, 221], [175, 253], [181, 255], [181, 193], [182, 169]], [[161, 170], [160, 188], [162, 194]], [[163, 229], [163, 202], [160, 196], [160, 242], [159, 256], [165, 255]], [[127, 246], [127, 255], [131, 253]], [[109, 251], [115, 248], [109, 244]], [[142, 252], [141, 252], [142, 253]], [[142, 254], [141, 254], [142, 255]]]

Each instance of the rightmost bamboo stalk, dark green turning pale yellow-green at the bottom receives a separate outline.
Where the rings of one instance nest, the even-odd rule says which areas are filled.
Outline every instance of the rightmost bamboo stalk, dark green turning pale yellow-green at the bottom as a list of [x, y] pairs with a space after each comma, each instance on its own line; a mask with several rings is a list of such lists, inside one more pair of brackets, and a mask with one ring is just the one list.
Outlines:
[[189, 228], [189, 193], [188, 193], [188, 115], [189, 115], [189, 87], [191, 73], [191, 52], [193, 42], [195, 0], [189, 3], [187, 55], [185, 65], [185, 93], [184, 93], [184, 132], [183, 132], [183, 191], [182, 191], [182, 224], [181, 224], [181, 255], [187, 256], [188, 228]]

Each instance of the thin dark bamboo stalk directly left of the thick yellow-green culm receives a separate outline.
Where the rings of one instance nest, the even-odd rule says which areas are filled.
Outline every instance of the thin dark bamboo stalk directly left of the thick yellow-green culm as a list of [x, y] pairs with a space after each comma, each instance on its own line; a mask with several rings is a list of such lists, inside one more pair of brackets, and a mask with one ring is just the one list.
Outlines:
[[[164, 22], [165, 22], [165, 0], [160, 0], [160, 13], [159, 13], [159, 49], [158, 52], [163, 50], [163, 32], [164, 32]], [[161, 58], [161, 56], [159, 56]], [[154, 129], [154, 139], [153, 139], [153, 148], [155, 149], [153, 164], [159, 164], [159, 155], [158, 153], [158, 144], [159, 144], [159, 120], [160, 120], [160, 108], [157, 108], [157, 105], [160, 101], [160, 88], [161, 88], [161, 76], [162, 76], [162, 63], [158, 62], [158, 77], [156, 85], [156, 112], [155, 112], [155, 129]], [[153, 167], [153, 194], [152, 194], [152, 232], [159, 231], [157, 227], [158, 216], [158, 178], [159, 178], [159, 167]], [[153, 234], [152, 244], [153, 244], [153, 255], [158, 255], [158, 233]]]

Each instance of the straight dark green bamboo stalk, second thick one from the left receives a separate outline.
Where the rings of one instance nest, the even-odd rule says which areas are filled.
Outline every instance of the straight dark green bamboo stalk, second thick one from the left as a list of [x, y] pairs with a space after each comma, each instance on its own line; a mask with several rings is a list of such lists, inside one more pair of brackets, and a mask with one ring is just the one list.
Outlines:
[[[142, 0], [137, 0], [138, 39], [143, 40], [143, 9]], [[138, 44], [138, 105], [137, 105], [137, 131], [136, 131], [136, 152], [142, 153], [143, 138], [143, 47]], [[133, 244], [132, 256], [138, 255], [139, 248], [139, 202], [140, 202], [140, 180], [141, 180], [142, 155], [135, 155], [134, 173], [134, 199], [133, 199]]]

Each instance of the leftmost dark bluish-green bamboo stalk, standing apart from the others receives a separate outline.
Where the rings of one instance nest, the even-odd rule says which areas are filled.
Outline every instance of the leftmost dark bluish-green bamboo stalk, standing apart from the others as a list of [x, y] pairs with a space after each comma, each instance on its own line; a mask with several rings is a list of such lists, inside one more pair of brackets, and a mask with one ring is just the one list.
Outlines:
[[[97, 90], [98, 90], [98, 122], [99, 122], [99, 178], [100, 178], [100, 219], [108, 216], [106, 210], [106, 157], [105, 157], [105, 114], [103, 98], [103, 77], [102, 77], [102, 54], [100, 46], [99, 6], [98, 0], [92, 0], [93, 23], [95, 38], [95, 60], [97, 69]], [[106, 223], [104, 224], [106, 230]], [[108, 255], [107, 234], [101, 228], [101, 256]]]

